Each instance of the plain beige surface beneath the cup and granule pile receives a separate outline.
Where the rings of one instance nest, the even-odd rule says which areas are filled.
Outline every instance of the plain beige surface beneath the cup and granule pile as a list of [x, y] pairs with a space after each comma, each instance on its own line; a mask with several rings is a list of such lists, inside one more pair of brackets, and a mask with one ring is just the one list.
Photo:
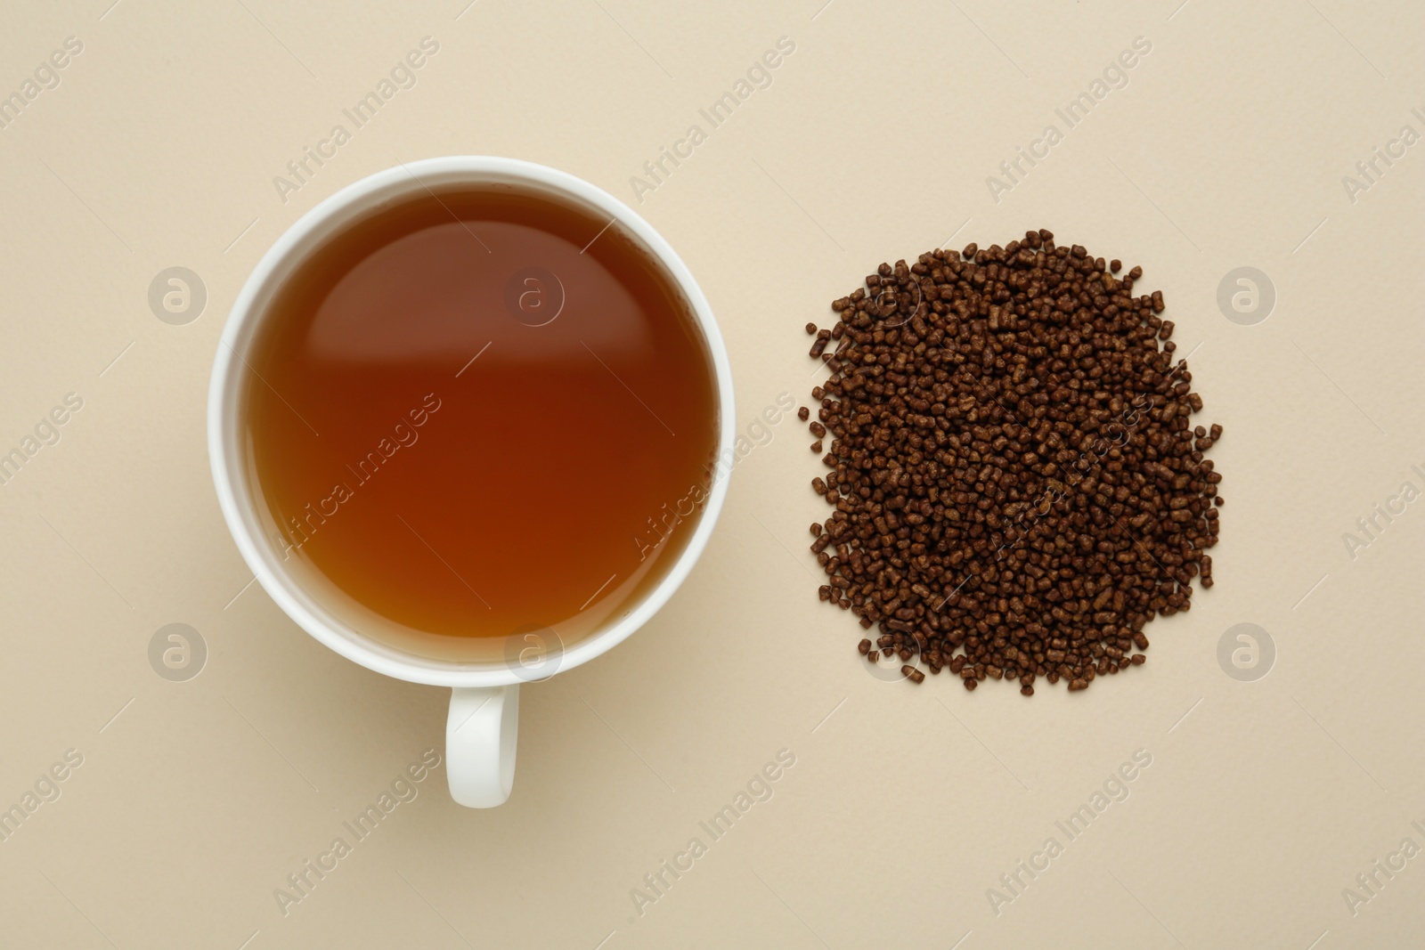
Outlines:
[[[1425, 469], [1425, 145], [1352, 202], [1342, 177], [1425, 113], [1425, 10], [1345, 0], [768, 7], [579, 0], [16, 4], [0, 94], [83, 53], [0, 131], [0, 450], [84, 407], [0, 487], [0, 806], [84, 763], [0, 845], [10, 947], [1414, 947], [1425, 859], [1352, 916], [1342, 889], [1425, 847], [1425, 501], [1352, 561], [1342, 533]], [[420, 37], [439, 53], [284, 204], [272, 178]], [[708, 130], [771, 48], [774, 84]], [[986, 175], [1134, 37], [1151, 53], [1000, 201]], [[1154, 622], [1150, 662], [1069, 696], [868, 675], [819, 604], [809, 437], [738, 466], [718, 530], [626, 645], [526, 688], [509, 805], [422, 783], [312, 893], [274, 889], [440, 746], [446, 694], [288, 621], [228, 538], [204, 406], [227, 309], [304, 211], [428, 155], [546, 162], [633, 202], [718, 315], [738, 426], [809, 399], [802, 325], [884, 259], [1047, 226], [1141, 263], [1191, 360], [1224, 473], [1217, 587]], [[1062, 122], [1059, 122], [1062, 127]], [[1382, 165], [1384, 168], [1384, 165]], [[150, 281], [204, 281], [155, 319]], [[1264, 323], [1218, 310], [1255, 266]], [[114, 362], [117, 357], [117, 362]], [[197, 628], [207, 667], [148, 642]], [[1265, 628], [1238, 682], [1217, 644]], [[829, 718], [828, 718], [829, 716]], [[779, 749], [795, 766], [654, 904], [630, 897]], [[1077, 840], [1054, 826], [1134, 751], [1151, 766]], [[1064, 846], [996, 914], [986, 889]], [[1385, 880], [1384, 875], [1379, 876]], [[245, 943], [247, 941], [247, 943]], [[959, 943], [958, 943], [959, 941]]]

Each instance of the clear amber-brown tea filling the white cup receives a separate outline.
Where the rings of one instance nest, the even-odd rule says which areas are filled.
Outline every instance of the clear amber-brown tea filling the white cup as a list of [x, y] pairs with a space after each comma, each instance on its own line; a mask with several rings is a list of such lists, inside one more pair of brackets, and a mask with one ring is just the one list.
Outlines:
[[383, 208], [306, 258], [244, 357], [275, 548], [410, 652], [484, 658], [537, 627], [569, 645], [663, 578], [710, 491], [715, 377], [687, 301], [561, 199]]

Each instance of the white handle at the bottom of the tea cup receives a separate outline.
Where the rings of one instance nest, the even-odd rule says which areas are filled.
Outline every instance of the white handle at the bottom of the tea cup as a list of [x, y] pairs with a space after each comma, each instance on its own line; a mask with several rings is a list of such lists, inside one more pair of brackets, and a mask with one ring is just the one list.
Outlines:
[[450, 691], [446, 719], [446, 776], [450, 798], [466, 808], [504, 805], [514, 785], [520, 688]]

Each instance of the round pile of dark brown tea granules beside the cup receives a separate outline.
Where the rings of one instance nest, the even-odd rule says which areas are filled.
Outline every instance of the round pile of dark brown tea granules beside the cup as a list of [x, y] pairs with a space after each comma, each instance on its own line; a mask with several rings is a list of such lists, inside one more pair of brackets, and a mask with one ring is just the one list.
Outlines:
[[1188, 610], [1194, 577], [1213, 585], [1221, 427], [1190, 422], [1163, 295], [1120, 269], [1030, 231], [882, 263], [835, 326], [807, 325], [834, 508], [811, 547], [821, 598], [879, 628], [869, 661], [1086, 689], [1144, 662], [1144, 625]]

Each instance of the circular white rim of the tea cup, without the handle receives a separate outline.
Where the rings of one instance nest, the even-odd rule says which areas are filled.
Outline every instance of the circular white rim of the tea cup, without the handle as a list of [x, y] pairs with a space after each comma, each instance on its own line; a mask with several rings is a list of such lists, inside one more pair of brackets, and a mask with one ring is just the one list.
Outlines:
[[[661, 263], [678, 289], [685, 296], [707, 340], [717, 385], [718, 444], [717, 457], [722, 459], [732, 450], [735, 416], [732, 399], [732, 372], [728, 366], [727, 348], [712, 316], [712, 308], [698, 286], [693, 272], [683, 258], [627, 204], [614, 198], [603, 188], [576, 175], [536, 162], [496, 155], [447, 155], [402, 162], [352, 182], [325, 198], [296, 219], [262, 255], [242, 289], [238, 292], [222, 328], [212, 363], [208, 385], [208, 460], [212, 469], [218, 504], [222, 508], [228, 533], [238, 546], [242, 560], [258, 583], [302, 630], [352, 662], [375, 672], [437, 687], [502, 687], [526, 682], [530, 678], [499, 661], [456, 662], [418, 657], [388, 647], [351, 628], [339, 618], [321, 610], [309, 595], [301, 591], [296, 581], [276, 567], [269, 546], [254, 537], [255, 513], [248, 504], [242, 471], [242, 451], [237, 426], [241, 380], [234, 372], [239, 359], [238, 349], [262, 316], [259, 298], [269, 291], [274, 278], [289, 271], [305, 258], [315, 242], [339, 228], [351, 215], [359, 215], [382, 199], [398, 199], [435, 184], [503, 181], [532, 184], [543, 189], [563, 192], [586, 205], [607, 212], [621, 228], [638, 239]], [[714, 474], [711, 490], [698, 526], [678, 560], [663, 581], [648, 591], [643, 600], [616, 622], [596, 634], [590, 634], [563, 649], [556, 672], [573, 669], [589, 662], [627, 640], [643, 627], [673, 595], [691, 573], [703, 550], [707, 547], [722, 501], [727, 497], [727, 474]], [[553, 674], [550, 674], [553, 675]]]

